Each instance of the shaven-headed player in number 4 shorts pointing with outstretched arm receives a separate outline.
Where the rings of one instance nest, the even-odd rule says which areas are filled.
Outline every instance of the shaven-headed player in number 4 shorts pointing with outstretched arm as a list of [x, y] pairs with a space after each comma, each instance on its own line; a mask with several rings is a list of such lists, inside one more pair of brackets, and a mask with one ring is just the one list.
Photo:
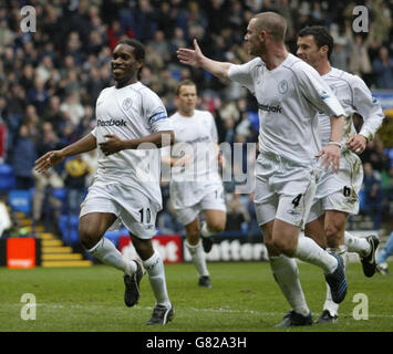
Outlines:
[[[180, 63], [246, 86], [259, 107], [259, 156], [255, 205], [275, 280], [291, 310], [278, 326], [312, 324], [300, 285], [298, 258], [322, 269], [333, 301], [347, 294], [342, 259], [310, 238], [299, 238], [316, 192], [318, 166], [339, 170], [344, 111], [318, 72], [285, 45], [287, 21], [276, 12], [251, 18], [245, 41], [256, 58], [238, 65], [206, 58], [196, 41], [180, 48]], [[330, 117], [331, 134], [321, 146], [318, 112]]]

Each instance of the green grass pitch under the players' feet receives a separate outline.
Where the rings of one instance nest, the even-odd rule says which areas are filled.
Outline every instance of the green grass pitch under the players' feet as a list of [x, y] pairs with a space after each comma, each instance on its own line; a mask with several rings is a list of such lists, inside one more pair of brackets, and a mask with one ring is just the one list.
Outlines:
[[[145, 275], [142, 296], [134, 308], [123, 302], [123, 277], [106, 266], [91, 268], [35, 268], [0, 270], [1, 332], [393, 332], [393, 275], [368, 279], [360, 263], [348, 269], [349, 291], [335, 324], [289, 330], [275, 329], [289, 310], [267, 262], [209, 263], [211, 289], [197, 287], [194, 266], [167, 264], [166, 277], [174, 321], [146, 326], [154, 305]], [[393, 264], [390, 264], [393, 268]], [[322, 272], [300, 263], [303, 291], [316, 319], [324, 301]], [[35, 320], [23, 320], [24, 293], [35, 296]], [[356, 310], [356, 294], [368, 304]], [[364, 302], [362, 303], [364, 305]], [[25, 309], [25, 308], [24, 308]], [[355, 320], [353, 313], [365, 314]], [[30, 312], [31, 314], [31, 312]]]

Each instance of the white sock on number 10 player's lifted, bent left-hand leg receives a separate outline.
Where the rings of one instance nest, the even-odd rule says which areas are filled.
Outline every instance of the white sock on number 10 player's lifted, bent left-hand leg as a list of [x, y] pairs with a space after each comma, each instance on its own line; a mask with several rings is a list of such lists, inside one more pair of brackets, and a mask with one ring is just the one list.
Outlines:
[[104, 264], [112, 266], [130, 275], [136, 271], [135, 262], [125, 260], [112, 241], [104, 237], [93, 248], [87, 250], [87, 252]]

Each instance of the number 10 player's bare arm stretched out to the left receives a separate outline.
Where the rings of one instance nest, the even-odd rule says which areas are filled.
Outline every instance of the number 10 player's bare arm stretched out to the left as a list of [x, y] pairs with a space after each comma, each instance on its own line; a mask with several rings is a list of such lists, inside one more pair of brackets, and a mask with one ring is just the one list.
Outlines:
[[48, 152], [35, 160], [35, 170], [44, 173], [54, 165], [60, 164], [65, 157], [86, 153], [96, 148], [96, 139], [93, 134], [87, 134], [77, 142], [62, 148], [61, 150]]

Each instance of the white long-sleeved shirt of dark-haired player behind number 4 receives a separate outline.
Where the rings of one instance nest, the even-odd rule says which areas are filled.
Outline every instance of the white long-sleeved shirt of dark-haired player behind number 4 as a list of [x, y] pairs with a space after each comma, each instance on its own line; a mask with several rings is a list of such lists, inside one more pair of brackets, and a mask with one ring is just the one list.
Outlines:
[[[345, 144], [350, 136], [358, 134], [352, 121], [352, 115], [355, 112], [362, 115], [364, 122], [360, 134], [364, 135], [369, 142], [372, 140], [382, 124], [384, 114], [379, 101], [372, 96], [364, 81], [335, 67], [332, 67], [329, 73], [321, 77], [339, 98], [345, 111], [342, 143]], [[330, 137], [330, 117], [320, 113], [319, 125], [322, 146], [324, 146]]]

